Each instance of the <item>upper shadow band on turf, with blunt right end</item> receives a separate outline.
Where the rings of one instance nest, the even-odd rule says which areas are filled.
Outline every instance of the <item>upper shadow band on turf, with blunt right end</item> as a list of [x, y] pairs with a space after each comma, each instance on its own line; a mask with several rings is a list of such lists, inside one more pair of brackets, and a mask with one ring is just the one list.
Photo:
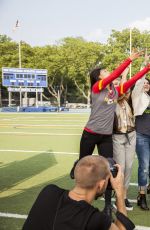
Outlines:
[[0, 167], [0, 191], [27, 180], [57, 164], [55, 156], [51, 153], [40, 153], [22, 161], [14, 161]]

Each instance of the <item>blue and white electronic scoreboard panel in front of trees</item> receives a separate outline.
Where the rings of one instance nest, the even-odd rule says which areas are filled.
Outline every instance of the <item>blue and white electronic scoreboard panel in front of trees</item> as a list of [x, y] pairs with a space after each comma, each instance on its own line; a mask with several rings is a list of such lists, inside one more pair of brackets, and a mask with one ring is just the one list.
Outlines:
[[47, 87], [46, 69], [2, 68], [2, 85], [6, 87]]

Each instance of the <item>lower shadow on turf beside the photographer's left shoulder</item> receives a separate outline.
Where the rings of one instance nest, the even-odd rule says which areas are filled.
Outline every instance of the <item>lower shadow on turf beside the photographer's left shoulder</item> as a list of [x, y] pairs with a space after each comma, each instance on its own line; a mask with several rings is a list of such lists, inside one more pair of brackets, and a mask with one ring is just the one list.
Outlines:
[[[13, 196], [0, 198], [0, 212], [28, 214], [39, 192], [48, 184], [56, 184], [62, 188], [70, 189], [73, 187], [74, 181], [69, 175], [64, 175], [56, 180], [42, 183], [29, 189], [22, 190], [21, 193]], [[22, 229], [24, 219], [0, 218], [0, 229]]]

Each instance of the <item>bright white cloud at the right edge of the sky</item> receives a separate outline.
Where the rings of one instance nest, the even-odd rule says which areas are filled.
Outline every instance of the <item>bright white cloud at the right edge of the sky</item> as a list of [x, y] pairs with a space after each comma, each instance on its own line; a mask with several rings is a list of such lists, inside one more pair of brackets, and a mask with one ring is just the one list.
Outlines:
[[136, 27], [140, 31], [144, 31], [144, 30], [149, 31], [150, 30], [150, 17], [145, 18], [143, 20], [134, 21], [129, 25], [129, 27], [130, 28], [135, 28]]

